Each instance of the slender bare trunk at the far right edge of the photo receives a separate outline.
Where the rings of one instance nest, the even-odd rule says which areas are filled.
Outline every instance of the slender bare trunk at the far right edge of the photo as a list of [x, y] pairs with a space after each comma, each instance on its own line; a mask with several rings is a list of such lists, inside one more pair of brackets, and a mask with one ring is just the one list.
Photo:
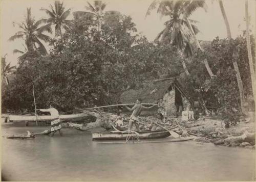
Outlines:
[[255, 73], [254, 73], [254, 66], [252, 62], [251, 56], [251, 40], [249, 34], [249, 14], [248, 14], [248, 0], [245, 1], [245, 21], [246, 21], [246, 44], [247, 44], [247, 52], [248, 52], [248, 60], [250, 65], [250, 73], [251, 73], [251, 86], [252, 86], [252, 93], [255, 102]]

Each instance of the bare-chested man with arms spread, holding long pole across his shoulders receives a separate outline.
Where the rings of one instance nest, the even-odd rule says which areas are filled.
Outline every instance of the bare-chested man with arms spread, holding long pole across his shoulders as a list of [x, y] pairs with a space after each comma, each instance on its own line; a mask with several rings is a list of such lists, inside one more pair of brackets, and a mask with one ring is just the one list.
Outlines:
[[141, 105], [141, 98], [138, 98], [136, 100], [136, 104], [134, 105], [133, 108], [129, 108], [127, 106], [124, 106], [127, 110], [133, 112], [132, 115], [130, 116], [130, 120], [129, 120], [129, 124], [128, 124], [128, 131], [130, 132], [131, 129], [132, 129], [133, 124], [135, 124], [138, 132], [141, 132], [139, 124], [137, 123], [138, 116], [140, 115], [142, 109], [145, 109], [145, 110], [151, 109], [151, 108], [155, 107], [156, 105], [157, 104], [155, 104], [155, 105], [153, 105], [151, 107], [144, 107], [144, 106]]

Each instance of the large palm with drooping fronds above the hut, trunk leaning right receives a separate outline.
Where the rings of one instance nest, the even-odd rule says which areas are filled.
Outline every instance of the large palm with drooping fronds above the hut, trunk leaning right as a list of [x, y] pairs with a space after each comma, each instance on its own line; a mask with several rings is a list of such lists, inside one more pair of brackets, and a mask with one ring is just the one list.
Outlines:
[[[158, 38], [162, 36], [161, 41], [164, 41], [164, 37], [168, 35], [170, 35], [170, 40], [176, 38], [179, 39], [179, 41], [184, 41], [184, 38], [181, 37], [184, 37], [182, 35], [186, 35], [187, 38], [193, 37], [197, 48], [203, 51], [196, 37], [199, 30], [194, 24], [191, 24], [191, 22], [196, 21], [189, 19], [189, 16], [198, 8], [206, 9], [204, 1], [154, 1], [148, 8], [146, 16], [149, 15], [153, 9], [157, 8], [157, 6], [157, 12], [160, 13], [161, 16], [170, 17], [170, 20], [165, 22], [166, 28], [158, 35]], [[188, 34], [185, 34], [185, 30], [189, 31]], [[187, 43], [187, 45], [189, 44]], [[209, 75], [213, 77], [214, 74], [209, 67], [207, 59], [203, 61]]]

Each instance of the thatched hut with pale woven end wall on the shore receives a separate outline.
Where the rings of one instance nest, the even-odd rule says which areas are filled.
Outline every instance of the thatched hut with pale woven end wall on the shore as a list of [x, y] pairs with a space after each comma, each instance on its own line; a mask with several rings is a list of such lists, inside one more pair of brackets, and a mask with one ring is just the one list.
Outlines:
[[[122, 103], [135, 103], [137, 98], [142, 99], [142, 103], [157, 103], [160, 98], [165, 102], [167, 116], [176, 115], [182, 108], [190, 102], [189, 96], [185, 93], [179, 82], [175, 78], [160, 79], [143, 84], [139, 89], [129, 89], [120, 96]], [[124, 110], [125, 112], [125, 110]], [[141, 115], [154, 115], [157, 107], [151, 111], [143, 111]]]

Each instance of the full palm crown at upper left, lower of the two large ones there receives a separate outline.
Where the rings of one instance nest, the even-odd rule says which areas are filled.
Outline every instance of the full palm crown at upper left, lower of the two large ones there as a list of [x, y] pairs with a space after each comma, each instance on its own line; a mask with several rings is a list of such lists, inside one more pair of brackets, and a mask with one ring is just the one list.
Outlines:
[[42, 44], [41, 40], [44, 42], [49, 42], [50, 37], [45, 35], [45, 32], [52, 33], [51, 24], [42, 25], [44, 20], [35, 21], [34, 17], [31, 16], [31, 8], [27, 8], [27, 16], [25, 16], [25, 22], [16, 23], [22, 31], [16, 32], [15, 35], [9, 38], [9, 41], [14, 41], [16, 39], [25, 39], [25, 44], [28, 51], [33, 51], [38, 49], [41, 54], [47, 54], [47, 50]]

